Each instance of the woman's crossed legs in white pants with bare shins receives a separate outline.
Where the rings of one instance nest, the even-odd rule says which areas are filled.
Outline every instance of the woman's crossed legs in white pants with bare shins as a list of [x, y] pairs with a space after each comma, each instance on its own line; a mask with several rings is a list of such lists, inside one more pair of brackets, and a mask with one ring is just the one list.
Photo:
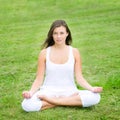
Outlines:
[[[39, 100], [40, 99], [40, 100]], [[100, 102], [100, 94], [90, 91], [79, 91], [71, 96], [47, 97], [38, 93], [30, 99], [24, 99], [22, 108], [26, 112], [45, 110], [56, 106], [90, 107]]]

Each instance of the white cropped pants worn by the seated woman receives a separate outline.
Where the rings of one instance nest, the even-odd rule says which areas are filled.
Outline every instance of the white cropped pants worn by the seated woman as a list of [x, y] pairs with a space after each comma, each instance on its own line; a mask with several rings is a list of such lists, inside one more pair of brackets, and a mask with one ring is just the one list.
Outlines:
[[[93, 93], [91, 91], [88, 90], [78, 90], [77, 92], [79, 92], [81, 101], [82, 101], [82, 106], [83, 107], [90, 107], [92, 105], [98, 104], [100, 102], [100, 94], [99, 93]], [[22, 108], [23, 110], [25, 110], [26, 112], [32, 112], [32, 111], [40, 111], [41, 107], [42, 107], [42, 102], [41, 100], [38, 98], [38, 95], [46, 95], [49, 97], [52, 96], [70, 96], [73, 93], [49, 93], [48, 91], [38, 91], [36, 92], [30, 99], [24, 99], [22, 102]]]

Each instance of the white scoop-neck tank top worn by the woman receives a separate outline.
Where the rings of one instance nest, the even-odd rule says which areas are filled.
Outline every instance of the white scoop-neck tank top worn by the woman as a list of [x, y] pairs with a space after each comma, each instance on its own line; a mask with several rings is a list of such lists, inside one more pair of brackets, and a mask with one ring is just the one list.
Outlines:
[[69, 57], [64, 64], [55, 64], [50, 61], [51, 47], [47, 48], [46, 75], [43, 86], [44, 90], [50, 91], [76, 91], [74, 82], [74, 56], [72, 47], [69, 46]]

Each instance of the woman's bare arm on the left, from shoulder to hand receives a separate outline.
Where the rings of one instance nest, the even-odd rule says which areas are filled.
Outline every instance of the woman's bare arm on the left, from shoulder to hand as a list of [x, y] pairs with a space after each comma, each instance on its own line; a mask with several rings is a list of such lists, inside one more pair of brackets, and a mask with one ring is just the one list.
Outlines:
[[31, 89], [23, 92], [24, 98], [30, 98], [42, 85], [45, 73], [46, 50], [42, 50], [38, 59], [38, 69], [36, 79], [34, 80]]

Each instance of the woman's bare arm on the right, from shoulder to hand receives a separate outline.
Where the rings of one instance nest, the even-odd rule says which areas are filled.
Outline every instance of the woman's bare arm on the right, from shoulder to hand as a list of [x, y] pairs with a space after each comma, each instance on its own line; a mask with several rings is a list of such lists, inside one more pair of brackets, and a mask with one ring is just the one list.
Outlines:
[[82, 86], [83, 88], [90, 90], [92, 92], [101, 92], [102, 87], [93, 87], [84, 79], [82, 75], [80, 53], [76, 48], [73, 49], [73, 53], [75, 57], [75, 77], [76, 77], [78, 84]]

